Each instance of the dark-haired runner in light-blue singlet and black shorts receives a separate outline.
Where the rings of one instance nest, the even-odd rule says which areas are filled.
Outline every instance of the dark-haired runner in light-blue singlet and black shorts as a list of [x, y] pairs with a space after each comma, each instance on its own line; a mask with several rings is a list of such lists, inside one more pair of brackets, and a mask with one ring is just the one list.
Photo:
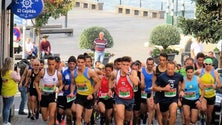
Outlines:
[[[181, 95], [183, 105], [183, 115], [185, 125], [195, 125], [198, 119], [201, 102], [204, 98], [204, 89], [201, 80], [194, 75], [194, 67], [186, 67], [186, 76], [184, 76], [184, 91]], [[201, 94], [199, 90], [201, 89]]]

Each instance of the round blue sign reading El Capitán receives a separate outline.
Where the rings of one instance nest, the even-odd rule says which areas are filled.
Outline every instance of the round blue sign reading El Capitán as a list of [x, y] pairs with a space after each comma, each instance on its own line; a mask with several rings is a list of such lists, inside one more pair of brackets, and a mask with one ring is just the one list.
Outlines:
[[13, 0], [11, 4], [12, 12], [23, 19], [37, 17], [43, 8], [43, 0]]

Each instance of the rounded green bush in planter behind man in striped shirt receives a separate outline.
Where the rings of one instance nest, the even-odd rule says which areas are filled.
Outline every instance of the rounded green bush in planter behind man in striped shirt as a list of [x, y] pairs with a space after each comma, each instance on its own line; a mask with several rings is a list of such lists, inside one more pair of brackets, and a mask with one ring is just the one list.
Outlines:
[[[113, 47], [113, 38], [109, 31], [104, 27], [93, 26], [85, 29], [80, 35], [80, 48], [90, 49], [92, 52], [88, 53], [92, 58], [94, 58], [94, 40], [98, 37], [99, 33], [103, 32], [105, 39], [107, 40], [106, 48]], [[104, 57], [104, 64], [109, 62], [109, 58], [114, 56], [113, 53], [106, 52]]]

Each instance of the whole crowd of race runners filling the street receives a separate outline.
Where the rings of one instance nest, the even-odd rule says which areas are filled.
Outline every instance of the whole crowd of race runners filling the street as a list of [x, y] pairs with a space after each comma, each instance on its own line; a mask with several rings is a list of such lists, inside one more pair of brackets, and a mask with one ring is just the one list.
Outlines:
[[188, 57], [183, 67], [165, 53], [159, 64], [151, 57], [124, 56], [105, 65], [93, 64], [87, 54], [70, 56], [67, 64], [57, 56], [47, 64], [31, 57], [20, 83], [29, 90], [28, 118], [41, 113], [49, 125], [152, 125], [154, 119], [174, 125], [178, 109], [181, 124], [195, 125], [201, 118], [210, 125], [220, 88], [213, 60], [203, 53]]

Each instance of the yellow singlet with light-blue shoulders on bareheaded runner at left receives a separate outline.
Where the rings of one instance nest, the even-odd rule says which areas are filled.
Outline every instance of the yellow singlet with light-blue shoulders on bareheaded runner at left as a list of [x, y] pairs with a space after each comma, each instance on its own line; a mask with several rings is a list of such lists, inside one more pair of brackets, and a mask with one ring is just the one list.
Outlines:
[[89, 68], [86, 67], [83, 74], [77, 74], [77, 70], [74, 71], [74, 78], [77, 86], [77, 93], [80, 95], [90, 95], [93, 92], [92, 79], [88, 77]]

